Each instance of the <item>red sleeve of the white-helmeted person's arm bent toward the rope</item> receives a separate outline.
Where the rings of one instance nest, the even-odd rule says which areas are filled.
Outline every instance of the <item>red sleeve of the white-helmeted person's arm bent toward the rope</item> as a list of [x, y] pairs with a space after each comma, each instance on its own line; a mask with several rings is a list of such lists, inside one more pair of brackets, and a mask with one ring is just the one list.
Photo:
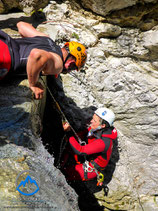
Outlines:
[[105, 143], [102, 139], [96, 139], [94, 142], [81, 146], [74, 137], [70, 137], [69, 143], [77, 155], [91, 155], [104, 151]]

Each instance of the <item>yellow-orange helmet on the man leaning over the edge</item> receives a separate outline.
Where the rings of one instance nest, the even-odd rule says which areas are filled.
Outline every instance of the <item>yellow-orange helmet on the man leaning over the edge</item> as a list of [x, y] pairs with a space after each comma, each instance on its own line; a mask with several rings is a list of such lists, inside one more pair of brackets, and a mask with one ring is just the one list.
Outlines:
[[84, 45], [75, 41], [66, 42], [65, 46], [68, 46], [69, 53], [76, 58], [76, 66], [79, 70], [84, 66], [87, 59], [86, 48]]

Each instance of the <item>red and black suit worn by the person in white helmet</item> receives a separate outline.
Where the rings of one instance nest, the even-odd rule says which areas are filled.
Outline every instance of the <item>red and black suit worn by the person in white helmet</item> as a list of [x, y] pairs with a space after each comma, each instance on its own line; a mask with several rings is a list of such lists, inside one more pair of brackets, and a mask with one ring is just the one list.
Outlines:
[[[88, 129], [90, 131], [91, 128]], [[87, 131], [87, 132], [88, 132]], [[113, 141], [117, 138], [115, 128], [106, 128], [93, 132], [88, 136], [88, 143], [81, 146], [75, 137], [69, 138], [70, 146], [75, 154], [88, 157], [89, 165], [98, 171], [103, 170], [112, 153]], [[84, 164], [77, 164], [66, 168], [68, 180], [90, 180], [97, 176], [96, 172], [86, 172]]]

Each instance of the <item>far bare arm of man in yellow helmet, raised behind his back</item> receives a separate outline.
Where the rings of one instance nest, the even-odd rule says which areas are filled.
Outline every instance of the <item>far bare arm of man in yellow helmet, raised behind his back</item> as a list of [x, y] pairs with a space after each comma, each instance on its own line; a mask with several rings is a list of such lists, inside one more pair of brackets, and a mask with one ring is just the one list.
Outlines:
[[45, 36], [49, 37], [48, 35], [37, 31], [31, 24], [20, 21], [17, 23], [17, 28], [19, 31], [19, 34], [22, 37], [35, 37], [35, 36]]

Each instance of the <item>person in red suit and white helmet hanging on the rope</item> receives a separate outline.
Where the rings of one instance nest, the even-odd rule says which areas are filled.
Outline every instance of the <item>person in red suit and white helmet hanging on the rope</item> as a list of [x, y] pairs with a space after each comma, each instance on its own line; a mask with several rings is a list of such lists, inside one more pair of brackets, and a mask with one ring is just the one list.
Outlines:
[[[85, 157], [86, 161], [70, 166], [63, 166], [67, 180], [91, 180], [98, 176], [108, 165], [113, 149], [113, 141], [117, 139], [117, 131], [113, 127], [115, 114], [108, 108], [98, 108], [90, 121], [90, 127], [78, 136], [86, 144], [81, 145], [78, 137], [71, 136], [69, 144], [78, 157]], [[71, 126], [66, 123], [63, 125], [65, 131], [70, 131]], [[69, 152], [70, 154], [70, 152]], [[66, 156], [65, 156], [66, 157]], [[65, 160], [64, 160], [65, 162]]]

